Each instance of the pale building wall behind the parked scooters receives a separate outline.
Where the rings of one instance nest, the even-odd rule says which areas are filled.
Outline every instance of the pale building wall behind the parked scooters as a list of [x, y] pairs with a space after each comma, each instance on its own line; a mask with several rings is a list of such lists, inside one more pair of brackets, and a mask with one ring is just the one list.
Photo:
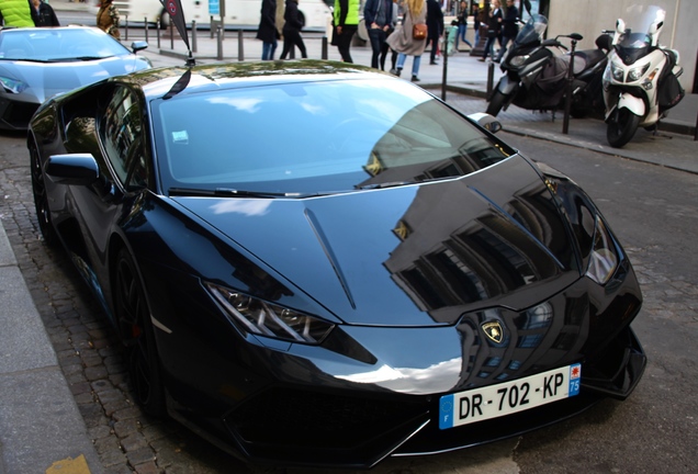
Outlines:
[[[548, 37], [579, 33], [578, 49], [595, 47], [601, 30], [613, 30], [616, 20], [633, 4], [658, 5], [666, 10], [660, 43], [678, 50], [684, 74], [679, 78], [690, 92], [698, 52], [698, 1], [696, 0], [551, 0]], [[698, 92], [698, 91], [695, 91]]]

